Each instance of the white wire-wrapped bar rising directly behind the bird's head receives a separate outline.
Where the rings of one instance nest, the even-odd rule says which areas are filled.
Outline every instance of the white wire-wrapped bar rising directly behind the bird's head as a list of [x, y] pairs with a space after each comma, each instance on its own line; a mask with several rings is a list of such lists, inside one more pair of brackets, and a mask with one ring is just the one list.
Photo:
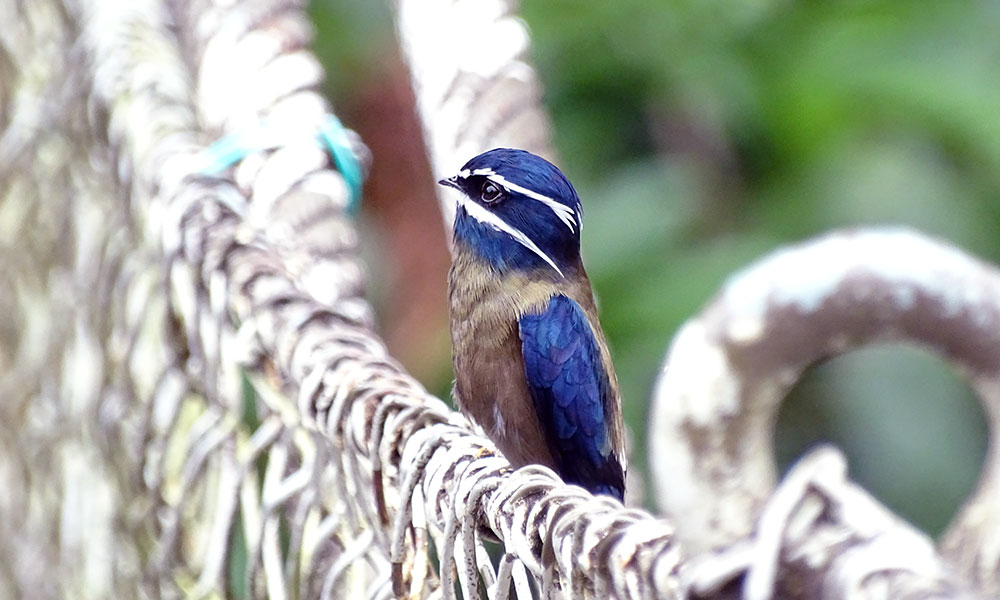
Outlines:
[[[396, 29], [410, 65], [435, 179], [493, 148], [554, 159], [541, 83], [527, 57], [530, 37], [515, 2], [395, 0]], [[445, 223], [452, 190], [438, 197]]]

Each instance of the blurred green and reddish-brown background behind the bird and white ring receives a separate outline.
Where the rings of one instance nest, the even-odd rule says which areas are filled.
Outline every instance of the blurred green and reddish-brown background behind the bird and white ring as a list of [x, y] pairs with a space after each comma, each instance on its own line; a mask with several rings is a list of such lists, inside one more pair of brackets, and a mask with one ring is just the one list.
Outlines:
[[[447, 254], [389, 7], [315, 0], [316, 49], [372, 147], [363, 226], [390, 349], [447, 396]], [[560, 166], [646, 464], [648, 397], [680, 324], [788, 242], [907, 224], [1000, 261], [1000, 2], [525, 0]], [[975, 484], [986, 425], [943, 362], [870, 348], [812, 369], [782, 468], [818, 441], [931, 533]], [[647, 498], [652, 505], [652, 499]]]

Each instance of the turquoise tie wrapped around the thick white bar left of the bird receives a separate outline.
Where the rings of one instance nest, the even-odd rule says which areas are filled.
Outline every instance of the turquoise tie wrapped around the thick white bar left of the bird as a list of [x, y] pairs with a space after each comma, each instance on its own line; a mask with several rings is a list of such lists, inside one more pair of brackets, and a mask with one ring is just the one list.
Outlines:
[[[207, 165], [202, 172], [217, 175], [243, 160], [248, 154], [274, 148], [276, 146], [274, 140], [268, 138], [267, 128], [264, 125], [220, 138], [205, 149]], [[347, 130], [344, 129], [340, 119], [334, 115], [327, 115], [319, 131], [316, 132], [316, 141], [330, 153], [334, 166], [347, 183], [350, 193], [347, 212], [357, 215], [358, 207], [361, 205], [361, 184], [364, 174], [361, 162], [351, 149]]]

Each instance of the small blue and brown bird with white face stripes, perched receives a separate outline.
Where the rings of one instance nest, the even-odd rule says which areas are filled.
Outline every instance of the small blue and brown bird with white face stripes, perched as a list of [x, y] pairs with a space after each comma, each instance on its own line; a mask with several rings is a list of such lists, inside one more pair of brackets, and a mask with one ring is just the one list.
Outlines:
[[541, 464], [620, 501], [621, 395], [562, 171], [495, 148], [441, 185], [457, 198], [448, 272], [453, 396], [513, 467]]

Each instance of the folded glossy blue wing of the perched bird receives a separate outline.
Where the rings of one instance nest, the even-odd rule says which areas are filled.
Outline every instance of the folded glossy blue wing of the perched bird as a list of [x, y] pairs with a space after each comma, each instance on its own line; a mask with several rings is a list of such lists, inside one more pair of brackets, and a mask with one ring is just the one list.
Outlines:
[[557, 470], [568, 483], [622, 499], [624, 473], [614, 455], [611, 385], [583, 309], [566, 296], [519, 322], [528, 389]]

